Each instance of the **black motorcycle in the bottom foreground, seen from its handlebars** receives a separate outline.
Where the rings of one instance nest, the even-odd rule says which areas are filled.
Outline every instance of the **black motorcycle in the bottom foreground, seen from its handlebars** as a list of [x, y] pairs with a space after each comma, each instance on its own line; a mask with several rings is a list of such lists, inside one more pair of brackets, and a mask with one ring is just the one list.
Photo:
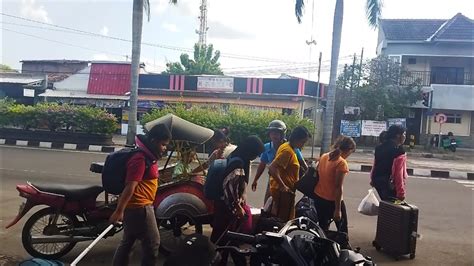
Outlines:
[[247, 235], [227, 232], [227, 239], [250, 244], [249, 248], [218, 247], [217, 251], [230, 251], [250, 257], [250, 265], [375, 265], [370, 257], [348, 250], [328, 239], [313, 221], [300, 217], [289, 221], [279, 232]]

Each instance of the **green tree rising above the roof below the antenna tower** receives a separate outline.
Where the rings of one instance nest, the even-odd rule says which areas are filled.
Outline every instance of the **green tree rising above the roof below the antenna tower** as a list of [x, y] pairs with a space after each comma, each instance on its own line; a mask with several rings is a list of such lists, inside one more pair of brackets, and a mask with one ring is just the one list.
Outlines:
[[163, 74], [189, 74], [189, 75], [222, 75], [219, 57], [221, 53], [210, 45], [194, 45], [193, 59], [188, 54], [181, 54], [180, 62], [166, 64]]

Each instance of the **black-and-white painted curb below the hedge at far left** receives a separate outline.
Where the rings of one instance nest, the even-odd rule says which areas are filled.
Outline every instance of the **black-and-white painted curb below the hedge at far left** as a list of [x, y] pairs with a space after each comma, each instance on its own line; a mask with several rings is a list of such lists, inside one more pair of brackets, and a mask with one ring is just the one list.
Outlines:
[[64, 142], [42, 142], [42, 141], [27, 141], [27, 140], [14, 140], [14, 139], [0, 139], [0, 145], [8, 146], [22, 146], [22, 147], [33, 147], [33, 148], [44, 148], [44, 149], [61, 149], [61, 150], [73, 150], [73, 151], [92, 151], [92, 152], [105, 152], [110, 153], [121, 149], [122, 147], [115, 146], [101, 146], [91, 144], [75, 144], [75, 143], [64, 143]]

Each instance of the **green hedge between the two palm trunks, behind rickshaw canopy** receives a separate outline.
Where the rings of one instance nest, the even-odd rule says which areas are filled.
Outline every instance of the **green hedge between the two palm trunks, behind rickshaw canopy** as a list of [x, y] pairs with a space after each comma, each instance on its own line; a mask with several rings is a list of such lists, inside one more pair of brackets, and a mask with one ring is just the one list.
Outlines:
[[306, 126], [308, 129], [311, 129], [313, 125], [310, 120], [300, 119], [297, 115], [282, 115], [274, 111], [256, 111], [239, 107], [231, 107], [229, 110], [224, 110], [222, 108], [202, 106], [193, 106], [186, 109], [186, 106], [182, 103], [162, 109], [153, 109], [142, 117], [141, 123], [145, 125], [147, 122], [169, 113], [210, 129], [229, 127], [231, 131], [230, 138], [236, 144], [250, 135], [257, 135], [262, 140], [268, 140], [266, 127], [274, 119], [284, 121], [289, 132], [298, 125]]

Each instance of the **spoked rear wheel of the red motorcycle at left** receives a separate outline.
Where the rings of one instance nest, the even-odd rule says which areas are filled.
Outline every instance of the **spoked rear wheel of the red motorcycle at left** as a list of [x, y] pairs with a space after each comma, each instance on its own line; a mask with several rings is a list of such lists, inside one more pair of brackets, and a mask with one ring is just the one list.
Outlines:
[[32, 237], [72, 236], [72, 231], [79, 223], [75, 216], [60, 213], [56, 224], [51, 224], [56, 210], [45, 208], [34, 213], [23, 226], [21, 240], [25, 250], [33, 257], [58, 259], [66, 255], [76, 245], [75, 242], [32, 243]]

